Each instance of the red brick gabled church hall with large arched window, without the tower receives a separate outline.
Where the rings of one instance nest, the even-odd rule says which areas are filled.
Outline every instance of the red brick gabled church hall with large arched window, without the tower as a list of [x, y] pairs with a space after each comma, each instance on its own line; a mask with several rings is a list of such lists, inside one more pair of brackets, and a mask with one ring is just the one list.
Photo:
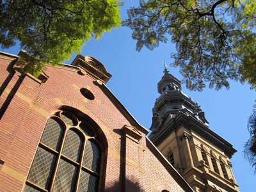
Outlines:
[[0, 191], [193, 191], [105, 83], [77, 56], [20, 74], [0, 52]]

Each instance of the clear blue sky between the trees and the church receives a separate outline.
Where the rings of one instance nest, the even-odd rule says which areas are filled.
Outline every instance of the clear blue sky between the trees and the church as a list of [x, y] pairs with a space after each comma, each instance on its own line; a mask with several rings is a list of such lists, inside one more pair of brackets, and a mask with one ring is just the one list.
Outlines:
[[[127, 17], [126, 10], [138, 6], [138, 0], [124, 1], [121, 9], [122, 19]], [[135, 51], [136, 41], [131, 38], [132, 31], [121, 27], [105, 33], [99, 40], [90, 40], [83, 47], [82, 55], [89, 55], [102, 62], [113, 77], [107, 83], [109, 89], [124, 104], [130, 113], [146, 128], [152, 120], [152, 108], [159, 93], [157, 83], [163, 76], [163, 61], [172, 63], [170, 53], [175, 52], [175, 45], [160, 44], [154, 51], [143, 47]], [[0, 51], [18, 54], [17, 45]], [[71, 63], [75, 56], [72, 56]], [[179, 68], [170, 68], [173, 76], [182, 79]], [[182, 91], [198, 102], [212, 131], [229, 141], [237, 149], [230, 159], [233, 172], [241, 191], [252, 191], [255, 188], [255, 175], [250, 164], [244, 160], [243, 145], [249, 138], [247, 121], [252, 114], [255, 90], [248, 84], [230, 82], [230, 89], [218, 92], [205, 88], [203, 92], [190, 92], [185, 85]]]

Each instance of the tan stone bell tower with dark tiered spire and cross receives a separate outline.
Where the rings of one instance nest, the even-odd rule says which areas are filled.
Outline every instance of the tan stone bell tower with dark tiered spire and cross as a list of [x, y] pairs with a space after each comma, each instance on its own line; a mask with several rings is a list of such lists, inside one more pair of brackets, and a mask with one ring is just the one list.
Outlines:
[[200, 106], [181, 90], [164, 63], [150, 140], [194, 191], [239, 191], [230, 162], [236, 149], [209, 129]]

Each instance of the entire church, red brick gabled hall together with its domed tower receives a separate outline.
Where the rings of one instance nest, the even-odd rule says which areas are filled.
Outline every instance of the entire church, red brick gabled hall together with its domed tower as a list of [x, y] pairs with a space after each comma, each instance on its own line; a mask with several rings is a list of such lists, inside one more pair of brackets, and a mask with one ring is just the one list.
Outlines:
[[239, 191], [236, 150], [167, 68], [148, 138], [92, 56], [38, 77], [20, 60], [0, 52], [0, 191]]

